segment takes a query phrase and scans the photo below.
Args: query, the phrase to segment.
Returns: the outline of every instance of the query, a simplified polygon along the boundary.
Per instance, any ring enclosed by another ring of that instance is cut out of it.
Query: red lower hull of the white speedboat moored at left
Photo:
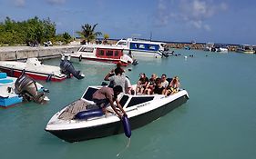
[[[15,77],[19,77],[20,75],[22,75],[23,70],[19,70],[19,69],[13,69],[13,68],[7,68],[7,67],[2,67],[0,66],[0,70],[5,72],[6,74],[10,75],[10,76],[15,76]],[[44,73],[36,73],[33,71],[25,71],[25,74],[30,76],[31,78],[35,79],[35,80],[47,80],[49,78],[48,74],[44,74]],[[56,75],[52,75],[50,81],[53,82],[60,82],[66,79],[66,76],[63,77],[58,77]]]

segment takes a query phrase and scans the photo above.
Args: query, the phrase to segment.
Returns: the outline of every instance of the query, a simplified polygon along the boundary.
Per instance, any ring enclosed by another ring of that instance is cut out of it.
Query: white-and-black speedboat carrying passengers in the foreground
[[[122,122],[111,106],[107,108],[108,113],[103,114],[92,101],[92,94],[100,87],[89,86],[80,99],[54,114],[46,125],[46,131],[67,142],[123,133]],[[179,90],[167,97],[163,94],[118,95],[119,103],[128,114],[130,129],[136,129],[168,114],[188,99],[186,90]],[[86,116],[89,111],[92,112]],[[77,114],[83,113],[86,118],[77,118]]]

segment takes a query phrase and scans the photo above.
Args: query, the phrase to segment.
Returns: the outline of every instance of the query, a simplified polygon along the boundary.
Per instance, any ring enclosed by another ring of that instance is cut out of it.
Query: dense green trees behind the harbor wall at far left
[[[0,22],[0,44],[37,44],[56,38],[56,25],[49,18],[40,20],[37,16],[26,21],[15,22],[6,17]]]

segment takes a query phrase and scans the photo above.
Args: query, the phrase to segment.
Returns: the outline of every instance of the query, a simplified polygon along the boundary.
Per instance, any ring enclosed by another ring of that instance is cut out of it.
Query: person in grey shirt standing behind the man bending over
[[[113,73],[115,72],[115,75]],[[123,74],[124,70],[120,67],[117,67],[115,70],[111,70],[108,75],[105,76],[104,80],[109,81],[110,84],[112,83],[113,86],[121,85],[123,92],[125,92],[125,83],[126,83],[126,76]]]

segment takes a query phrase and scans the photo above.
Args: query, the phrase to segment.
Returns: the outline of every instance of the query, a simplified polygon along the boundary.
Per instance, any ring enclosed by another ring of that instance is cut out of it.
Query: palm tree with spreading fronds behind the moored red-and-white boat
[[[97,35],[102,35],[101,32],[95,32],[95,27],[97,26],[97,24],[95,25],[82,25],[82,31],[79,32],[77,31],[77,34],[80,35],[84,41],[86,41],[87,43],[91,42],[92,40],[95,40],[97,38]]]

